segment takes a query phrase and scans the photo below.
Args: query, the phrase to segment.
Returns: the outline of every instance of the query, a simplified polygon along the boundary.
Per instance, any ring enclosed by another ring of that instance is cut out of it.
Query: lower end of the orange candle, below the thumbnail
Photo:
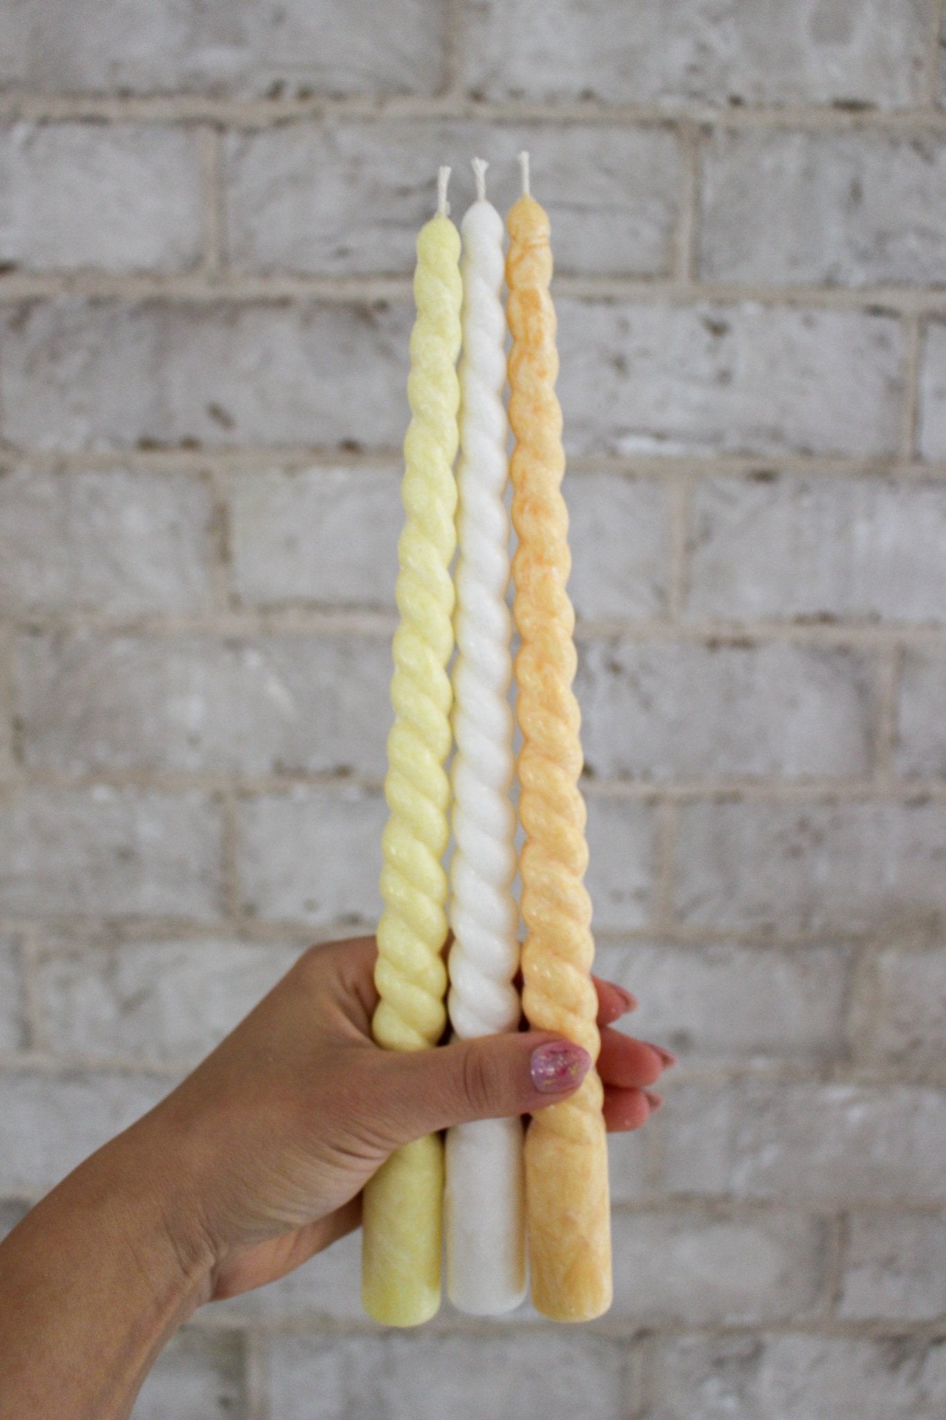
[[[553,1322],[590,1322],[613,1295],[607,1135],[600,1115],[590,1126],[566,1110],[550,1105],[526,1130],[532,1305]]]

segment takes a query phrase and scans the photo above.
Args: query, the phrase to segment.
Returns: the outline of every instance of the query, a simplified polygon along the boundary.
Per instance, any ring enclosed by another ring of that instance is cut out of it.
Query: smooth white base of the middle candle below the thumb
[[[525,1301],[525,1173],[521,1119],[447,1130],[447,1295],[472,1316]]]

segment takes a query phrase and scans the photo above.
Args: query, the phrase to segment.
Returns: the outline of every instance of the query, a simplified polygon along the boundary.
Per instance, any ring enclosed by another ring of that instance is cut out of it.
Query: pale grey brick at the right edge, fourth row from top
[[[946,486],[888,479],[701,479],[689,616],[943,621]]]

